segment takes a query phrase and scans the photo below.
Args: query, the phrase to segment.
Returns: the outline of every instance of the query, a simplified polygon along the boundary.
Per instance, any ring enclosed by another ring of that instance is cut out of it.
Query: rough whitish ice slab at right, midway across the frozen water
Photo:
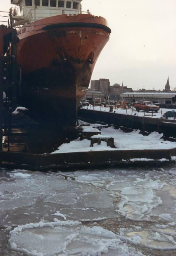
[[[149,220],[152,210],[163,204],[156,191],[167,185],[157,177],[154,180],[134,177],[133,182],[129,182],[128,179],[112,181],[107,185],[107,189],[121,196],[116,206],[118,213],[132,220]]]

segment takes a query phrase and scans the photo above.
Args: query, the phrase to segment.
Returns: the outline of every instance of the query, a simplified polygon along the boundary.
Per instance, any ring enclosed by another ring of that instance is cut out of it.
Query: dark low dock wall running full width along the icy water
[[[104,164],[118,164],[123,162],[148,163],[148,159],[155,162],[175,161],[176,148],[161,150],[113,150],[113,151],[90,151],[61,154],[26,154],[0,151],[0,163],[2,165],[19,165],[23,169],[45,168],[69,168],[72,166],[99,166]],[[136,159],[136,160],[135,160]],[[147,162],[146,160],[147,159]]]

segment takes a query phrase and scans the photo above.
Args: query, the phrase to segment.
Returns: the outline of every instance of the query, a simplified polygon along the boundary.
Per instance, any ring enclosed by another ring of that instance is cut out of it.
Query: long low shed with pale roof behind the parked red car
[[[153,101],[159,104],[173,104],[174,92],[126,92],[120,94],[120,99],[128,103],[140,101]]]

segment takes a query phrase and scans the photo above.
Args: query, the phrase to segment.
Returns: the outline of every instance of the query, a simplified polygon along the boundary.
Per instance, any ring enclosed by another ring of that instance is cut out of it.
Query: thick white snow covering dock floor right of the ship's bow
[[[116,148],[111,148],[107,146],[105,141],[101,141],[100,145],[94,144],[90,147],[90,140],[84,139],[73,140],[70,143],[62,144],[58,150],[52,152],[52,154],[58,153],[68,153],[68,152],[89,152],[89,151],[104,151],[104,150],[137,150],[137,149],[170,149],[176,148],[176,142],[164,141],[161,139],[163,134],[158,132],[152,132],[148,136],[143,136],[140,134],[140,130],[133,131],[130,133],[125,133],[122,130],[116,130],[113,126],[108,128],[102,128],[99,131],[93,128],[94,124],[91,126],[83,126],[83,132],[101,132],[101,135],[95,135],[92,137],[105,137],[114,138],[114,145]]]

